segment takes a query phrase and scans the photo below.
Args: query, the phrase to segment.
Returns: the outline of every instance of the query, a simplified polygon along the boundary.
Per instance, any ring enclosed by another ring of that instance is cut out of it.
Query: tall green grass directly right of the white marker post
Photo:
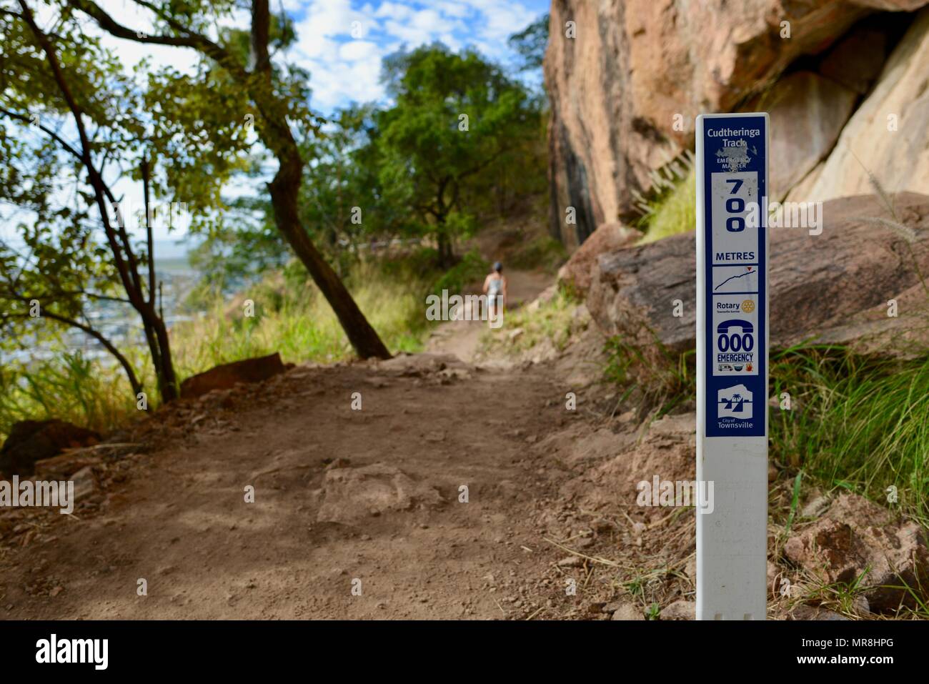
[[[771,360],[771,455],[830,489],[896,502],[929,522],[929,357],[866,360],[843,348],[787,349]],[[779,401],[780,402],[780,401]]]

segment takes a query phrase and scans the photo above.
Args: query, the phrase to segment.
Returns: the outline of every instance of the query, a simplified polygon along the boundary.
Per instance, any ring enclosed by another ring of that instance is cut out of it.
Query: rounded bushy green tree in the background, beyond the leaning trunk
[[[383,192],[412,208],[448,267],[454,240],[476,227],[465,196],[538,138],[538,103],[477,52],[441,44],[386,58],[384,82],[396,104],[377,117]]]

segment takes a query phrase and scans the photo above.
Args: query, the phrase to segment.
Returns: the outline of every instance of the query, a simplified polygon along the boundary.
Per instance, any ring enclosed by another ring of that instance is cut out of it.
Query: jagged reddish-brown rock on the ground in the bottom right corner
[[[914,605],[909,585],[929,598],[929,547],[926,533],[913,521],[896,521],[882,506],[843,493],[826,514],[795,533],[784,555],[829,583],[851,583],[865,573],[863,592],[872,612],[893,612]],[[921,588],[922,587],[922,588]]]

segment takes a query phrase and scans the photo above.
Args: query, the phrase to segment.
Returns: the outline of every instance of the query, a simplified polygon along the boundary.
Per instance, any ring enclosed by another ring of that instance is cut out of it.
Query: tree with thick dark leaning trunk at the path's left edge
[[[212,27],[218,20],[232,17],[241,2],[167,0],[156,5],[148,0],[132,0],[137,9],[150,13],[155,24],[153,32],[124,25],[93,0],[65,2],[117,38],[146,45],[186,47],[202,56],[202,68],[195,76],[163,74],[159,87],[150,89],[171,96],[167,107],[152,109],[163,134],[160,139],[170,140],[181,159],[187,155],[191,160],[203,160],[204,148],[224,151],[229,147],[229,128],[243,129],[247,125],[250,132],[254,131],[257,141],[278,164],[268,183],[277,229],[332,306],[360,357],[389,357],[345,284],[310,239],[300,217],[299,196],[307,160],[298,137],[317,130],[320,122],[307,108],[306,73],[293,67],[284,69],[272,59],[278,47],[293,39],[287,20],[275,20],[268,0],[252,0],[247,31],[219,32],[214,40],[210,37]],[[217,99],[224,100],[225,105],[212,104]],[[181,106],[172,108],[172,103]],[[232,139],[236,139],[234,135]],[[182,171],[190,168],[183,166]],[[210,182],[209,168],[197,170],[197,177],[185,173],[176,178],[177,185],[184,180],[191,188],[201,190],[200,186]]]

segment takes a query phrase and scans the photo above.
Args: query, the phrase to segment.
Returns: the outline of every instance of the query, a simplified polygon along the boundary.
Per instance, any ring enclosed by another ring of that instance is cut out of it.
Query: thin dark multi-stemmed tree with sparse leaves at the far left
[[[27,343],[53,335],[36,320],[78,328],[110,351],[138,393],[132,364],[88,310],[134,309],[162,400],[171,401],[177,377],[151,268],[158,164],[149,156],[142,94],[70,13],[59,16],[53,38],[24,0],[18,4],[19,12],[0,14],[0,144],[7,161],[0,200],[34,220],[20,222],[19,243],[0,244],[0,326],[7,339]],[[134,240],[127,228],[133,217],[111,189],[126,176],[144,185],[144,241]]]

